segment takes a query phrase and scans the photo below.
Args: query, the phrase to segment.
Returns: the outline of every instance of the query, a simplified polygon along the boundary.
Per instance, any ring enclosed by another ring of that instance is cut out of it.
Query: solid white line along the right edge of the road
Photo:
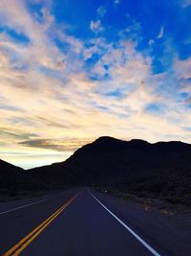
[[[89,191],[90,195],[96,199],[96,201],[106,210],[108,211],[121,225],[123,225],[141,244],[143,244],[153,255],[160,256],[159,252],[157,252],[153,247],[151,247],[149,244],[147,244],[143,239],[141,239],[138,234],[131,229],[127,224],[125,224],[123,221],[121,221],[112,211],[110,211],[99,199],[95,197],[95,195],[92,194],[91,191]]]

